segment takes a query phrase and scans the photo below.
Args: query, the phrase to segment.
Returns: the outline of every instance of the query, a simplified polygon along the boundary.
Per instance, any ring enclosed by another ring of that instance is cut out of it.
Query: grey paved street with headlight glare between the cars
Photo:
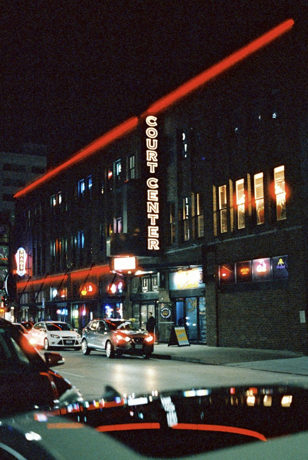
[[[143,360],[140,357],[107,359],[104,353],[96,351],[92,351],[89,356],[84,356],[80,351],[66,350],[61,353],[65,364],[54,370],[79,388],[86,398],[101,396],[107,384],[114,386],[121,394],[241,384],[284,383],[308,386],[306,375],[245,368],[250,364],[247,362],[241,367],[241,364],[234,363],[207,365],[156,358]]]

